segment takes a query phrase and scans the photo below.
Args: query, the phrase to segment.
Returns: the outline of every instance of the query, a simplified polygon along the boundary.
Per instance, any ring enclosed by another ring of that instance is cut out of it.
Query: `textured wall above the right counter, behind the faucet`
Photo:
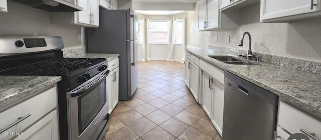
[[[242,8],[238,14],[238,29],[198,32],[198,9],[188,12],[187,45],[204,49],[214,45],[247,50],[248,37],[245,37],[244,47],[238,46],[240,37],[247,31],[252,36],[253,52],[321,62],[321,18],[260,23],[260,3]],[[216,36],[219,42],[216,42]],[[230,43],[227,43],[227,36],[230,36]]]

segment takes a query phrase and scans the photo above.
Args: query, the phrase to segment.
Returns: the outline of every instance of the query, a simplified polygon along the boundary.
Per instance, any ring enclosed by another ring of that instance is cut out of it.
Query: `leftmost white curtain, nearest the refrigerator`
[[[139,19],[139,37],[140,37],[139,55],[140,55],[140,61],[146,61],[145,21],[146,21],[145,19]]]

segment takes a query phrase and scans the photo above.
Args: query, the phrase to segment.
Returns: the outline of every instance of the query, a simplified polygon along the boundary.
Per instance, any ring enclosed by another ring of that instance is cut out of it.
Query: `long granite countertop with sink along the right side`
[[[319,74],[263,62],[259,62],[259,65],[226,64],[208,55],[229,54],[204,49],[186,49],[186,51],[321,116],[321,75]]]

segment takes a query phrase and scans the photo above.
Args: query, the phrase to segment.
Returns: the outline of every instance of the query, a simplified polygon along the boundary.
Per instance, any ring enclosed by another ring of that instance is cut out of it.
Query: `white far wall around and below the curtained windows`
[[[169,20],[187,18],[187,13],[176,15],[138,15],[139,19],[149,20]],[[140,47],[140,46],[139,46]],[[182,45],[174,45],[173,57],[175,61],[181,62],[183,57]],[[169,56],[169,44],[149,44],[149,58],[150,60],[166,60]],[[138,56],[140,58],[140,55]]]

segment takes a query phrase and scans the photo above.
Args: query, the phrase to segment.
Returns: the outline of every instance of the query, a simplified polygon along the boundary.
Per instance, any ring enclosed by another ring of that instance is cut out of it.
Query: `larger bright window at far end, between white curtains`
[[[167,20],[149,21],[149,43],[169,43],[169,23]]]

